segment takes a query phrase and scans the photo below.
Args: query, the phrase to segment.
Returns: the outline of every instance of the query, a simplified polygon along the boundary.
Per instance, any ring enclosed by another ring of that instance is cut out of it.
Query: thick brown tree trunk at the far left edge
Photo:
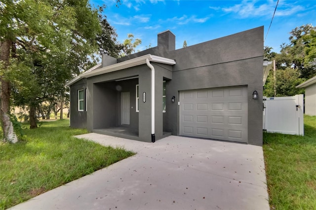
[[[2,70],[6,70],[9,65],[9,56],[10,56],[10,46],[11,41],[6,39],[4,42],[0,42],[0,51],[1,56],[0,60],[3,62],[4,67]],[[10,83],[6,81],[4,76],[0,76],[1,82],[1,108],[0,108],[0,122],[1,128],[3,131],[4,140],[11,141],[15,143],[18,141],[16,134],[13,130],[13,125],[10,120]]]

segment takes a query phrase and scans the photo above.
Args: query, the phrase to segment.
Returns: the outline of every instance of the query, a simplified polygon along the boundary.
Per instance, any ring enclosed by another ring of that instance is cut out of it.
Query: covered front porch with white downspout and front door
[[[153,58],[159,63],[159,57]],[[87,78],[89,131],[147,142],[171,135],[163,132],[162,89],[163,81],[172,79],[172,66],[145,60],[148,64],[122,69],[114,64],[113,71],[108,66],[106,73]]]

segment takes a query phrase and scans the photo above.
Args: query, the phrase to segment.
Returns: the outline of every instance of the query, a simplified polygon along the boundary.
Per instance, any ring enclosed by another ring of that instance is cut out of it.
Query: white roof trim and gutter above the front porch
[[[100,74],[104,74],[104,73],[109,73],[109,72],[113,72],[113,71],[117,71],[117,70],[123,70],[123,69],[127,69],[127,68],[130,68],[130,67],[136,67],[136,66],[139,66],[139,65],[146,64],[146,59],[148,59],[151,62],[156,62],[156,63],[161,63],[161,64],[169,64],[169,65],[175,65],[176,64],[176,62],[174,60],[172,60],[172,59],[163,58],[163,57],[159,57],[159,56],[156,56],[156,55],[147,54],[147,55],[144,55],[144,56],[140,56],[138,58],[134,58],[134,59],[130,59],[130,60],[127,60],[127,61],[123,61],[123,62],[120,62],[120,63],[117,63],[117,64],[113,64],[111,66],[103,67],[103,68],[100,68],[100,69],[96,69],[96,68],[92,67],[92,68],[94,68],[93,70],[91,68],[91,69],[85,71],[84,73],[80,74],[79,76],[77,76],[73,80],[69,81],[66,84],[66,86],[70,86],[70,85],[74,84],[75,82],[77,82],[81,78],[88,78],[88,77],[91,77],[91,76],[96,76],[96,75],[100,75]]]

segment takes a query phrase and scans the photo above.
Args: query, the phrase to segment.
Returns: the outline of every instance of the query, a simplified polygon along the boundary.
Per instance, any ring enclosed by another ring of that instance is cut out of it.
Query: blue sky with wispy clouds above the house
[[[127,34],[140,38],[137,50],[157,46],[157,34],[170,30],[176,35],[176,49],[235,34],[259,26],[264,37],[277,0],[90,0],[92,5],[106,4],[104,14],[116,29],[118,40]],[[265,40],[279,52],[288,43],[289,32],[303,24],[316,25],[316,0],[279,0],[276,14]]]

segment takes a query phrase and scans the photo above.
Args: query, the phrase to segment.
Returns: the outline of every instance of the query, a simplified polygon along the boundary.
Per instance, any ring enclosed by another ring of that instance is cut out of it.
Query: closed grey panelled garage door
[[[180,135],[247,142],[247,87],[181,91]]]

